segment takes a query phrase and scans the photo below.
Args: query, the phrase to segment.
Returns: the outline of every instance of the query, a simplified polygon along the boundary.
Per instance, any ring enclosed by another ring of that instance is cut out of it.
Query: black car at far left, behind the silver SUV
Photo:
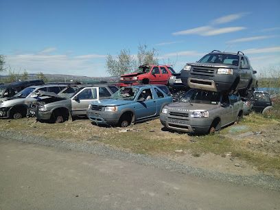
[[[28,86],[42,85],[45,84],[43,80],[27,80],[11,82],[8,84],[0,85],[0,98],[2,97],[12,97],[19,91],[25,89]]]

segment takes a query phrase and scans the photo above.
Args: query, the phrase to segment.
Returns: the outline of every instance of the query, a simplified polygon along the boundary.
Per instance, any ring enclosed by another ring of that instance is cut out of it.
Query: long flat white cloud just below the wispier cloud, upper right
[[[215,36],[218,34],[226,34],[231,32],[238,32],[244,30],[246,27],[222,27],[215,28],[211,26],[196,27],[190,30],[174,32],[173,35],[187,35],[187,34],[198,34],[200,36]]]

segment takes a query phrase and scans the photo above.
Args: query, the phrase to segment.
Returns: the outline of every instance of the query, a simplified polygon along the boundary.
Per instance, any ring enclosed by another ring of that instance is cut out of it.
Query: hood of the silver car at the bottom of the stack
[[[170,110],[212,110],[217,108],[218,104],[198,104],[198,103],[187,103],[187,102],[175,102],[168,104],[166,108]]]

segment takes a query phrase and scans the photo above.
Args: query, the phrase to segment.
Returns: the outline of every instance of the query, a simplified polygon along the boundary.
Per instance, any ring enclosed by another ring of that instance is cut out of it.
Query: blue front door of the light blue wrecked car
[[[136,102],[133,105],[136,119],[143,119],[156,115],[156,99],[152,89],[142,89],[137,95]]]

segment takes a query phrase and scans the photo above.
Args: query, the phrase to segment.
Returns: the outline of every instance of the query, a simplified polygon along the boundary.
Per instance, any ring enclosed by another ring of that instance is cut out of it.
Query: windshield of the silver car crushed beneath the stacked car
[[[191,89],[180,98],[180,102],[197,104],[219,104],[220,94],[212,91]]]

